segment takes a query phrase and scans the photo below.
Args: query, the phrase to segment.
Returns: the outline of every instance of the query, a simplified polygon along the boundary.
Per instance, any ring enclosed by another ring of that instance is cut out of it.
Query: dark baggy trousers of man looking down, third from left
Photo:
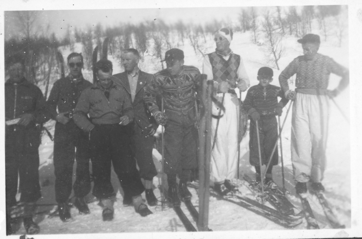
[[[129,129],[118,124],[95,125],[90,131],[95,197],[106,199],[115,196],[111,184],[111,164],[125,194],[136,196],[144,191],[136,161],[131,157],[129,143]]]

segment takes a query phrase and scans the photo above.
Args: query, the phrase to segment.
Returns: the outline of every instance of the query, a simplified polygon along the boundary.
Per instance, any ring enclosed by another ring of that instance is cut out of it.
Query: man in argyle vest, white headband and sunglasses
[[[235,189],[231,179],[237,174],[238,126],[241,120],[239,101],[233,89],[237,87],[245,91],[250,85],[243,60],[230,49],[232,36],[230,29],[217,31],[214,38],[216,50],[207,54],[203,61],[203,74],[208,80],[214,80],[216,92],[212,103],[211,137],[214,146],[210,177],[220,195]]]

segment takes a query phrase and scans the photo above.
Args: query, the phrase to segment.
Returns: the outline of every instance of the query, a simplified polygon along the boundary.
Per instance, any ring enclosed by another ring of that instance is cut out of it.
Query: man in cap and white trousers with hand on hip
[[[296,192],[307,192],[307,182],[314,191],[324,191],[321,183],[325,170],[328,133],[328,97],[337,96],[349,84],[349,71],[332,58],[318,52],[319,35],[307,34],[298,40],[303,56],[296,57],[279,75],[285,96],[294,100],[291,132],[291,160]],[[342,77],[336,89],[327,90],[329,75]],[[287,80],[296,74],[295,91]]]

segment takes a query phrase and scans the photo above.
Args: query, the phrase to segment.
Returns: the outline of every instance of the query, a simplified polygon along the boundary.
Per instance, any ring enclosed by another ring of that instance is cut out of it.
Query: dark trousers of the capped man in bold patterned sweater
[[[194,126],[194,111],[187,115],[165,112],[165,164],[166,174],[181,174],[182,169],[197,168],[198,131]],[[181,178],[180,178],[181,179]]]

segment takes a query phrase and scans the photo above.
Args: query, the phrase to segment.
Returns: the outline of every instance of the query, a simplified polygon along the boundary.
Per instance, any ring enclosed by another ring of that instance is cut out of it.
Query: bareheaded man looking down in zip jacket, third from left
[[[136,166],[130,163],[128,129],[122,127],[133,121],[131,101],[124,88],[111,80],[112,62],[103,59],[95,67],[98,81],[82,92],[74,110],[75,123],[89,134],[93,195],[101,201],[103,220],[111,221],[115,199],[110,178],[113,164],[123,191],[132,197],[136,212],[147,216],[152,212],[142,202],[144,187]]]

